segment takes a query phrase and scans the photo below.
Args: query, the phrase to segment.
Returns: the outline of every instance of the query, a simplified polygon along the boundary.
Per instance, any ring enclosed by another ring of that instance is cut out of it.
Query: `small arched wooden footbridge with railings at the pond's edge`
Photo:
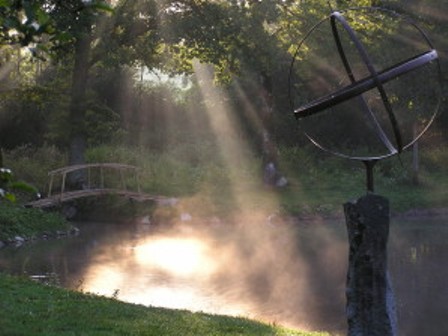
[[[83,183],[78,190],[68,190],[67,175],[82,174]],[[137,202],[155,201],[162,205],[173,205],[176,200],[140,191],[138,168],[120,163],[92,163],[73,165],[48,173],[48,193],[26,204],[33,208],[51,208],[80,198],[118,195]]]

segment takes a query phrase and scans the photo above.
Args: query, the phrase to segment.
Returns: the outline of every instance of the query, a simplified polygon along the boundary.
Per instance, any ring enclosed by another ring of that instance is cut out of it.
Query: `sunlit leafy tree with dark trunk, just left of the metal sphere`
[[[319,1],[188,0],[177,1],[164,17],[171,64],[187,72],[193,72],[194,59],[213,64],[216,81],[238,86],[240,99],[250,101],[246,108],[257,117],[246,123],[255,128],[265,165],[276,165],[275,120],[289,109],[284,104],[292,41],[287,35],[303,34],[303,7],[319,13],[322,6]]]

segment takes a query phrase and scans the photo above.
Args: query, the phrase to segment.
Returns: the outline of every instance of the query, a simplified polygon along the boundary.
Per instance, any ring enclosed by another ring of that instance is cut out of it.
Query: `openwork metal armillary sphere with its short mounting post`
[[[380,8],[333,11],[298,44],[289,96],[308,139],[373,166],[412,146],[441,102],[437,51],[406,17]]]

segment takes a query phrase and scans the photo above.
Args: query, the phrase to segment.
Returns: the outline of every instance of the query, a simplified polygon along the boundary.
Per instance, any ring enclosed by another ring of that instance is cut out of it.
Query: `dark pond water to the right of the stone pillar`
[[[391,228],[392,271],[403,335],[448,335],[448,226],[407,220]]]

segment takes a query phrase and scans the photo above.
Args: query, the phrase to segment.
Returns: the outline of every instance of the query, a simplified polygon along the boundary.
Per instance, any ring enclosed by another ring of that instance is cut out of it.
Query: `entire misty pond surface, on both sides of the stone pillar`
[[[345,334],[344,221],[77,223],[80,235],[0,250],[0,271],[144,305]],[[393,220],[400,335],[448,335],[446,220]]]

